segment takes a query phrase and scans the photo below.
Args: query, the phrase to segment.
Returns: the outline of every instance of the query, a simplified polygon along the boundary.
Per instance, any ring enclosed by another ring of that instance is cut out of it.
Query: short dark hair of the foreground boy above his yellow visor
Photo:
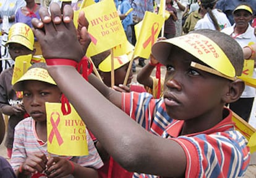
[[[218,44],[236,70],[236,76],[241,76],[244,67],[244,52],[235,39],[228,34],[209,29],[195,30],[190,33],[202,34]]]

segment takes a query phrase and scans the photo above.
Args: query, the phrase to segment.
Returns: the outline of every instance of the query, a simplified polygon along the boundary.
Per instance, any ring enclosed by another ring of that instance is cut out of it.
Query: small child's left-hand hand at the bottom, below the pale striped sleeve
[[[28,155],[24,163],[21,165],[20,174],[35,174],[37,172],[43,172],[46,169],[47,158],[44,153],[35,153],[34,155]]]

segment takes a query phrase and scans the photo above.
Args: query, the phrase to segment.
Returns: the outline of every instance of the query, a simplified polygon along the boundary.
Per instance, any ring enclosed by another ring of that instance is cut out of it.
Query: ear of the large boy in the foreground
[[[223,101],[225,103],[233,103],[236,100],[238,100],[242,92],[244,91],[244,81],[241,79],[236,79],[235,81],[232,81],[229,83],[229,90],[226,92],[226,94],[223,96]]]

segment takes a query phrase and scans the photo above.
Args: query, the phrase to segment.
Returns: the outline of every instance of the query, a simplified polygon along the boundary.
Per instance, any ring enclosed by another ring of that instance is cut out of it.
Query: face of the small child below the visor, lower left
[[[61,91],[41,81],[24,81],[23,86],[25,110],[35,121],[46,121],[45,102],[60,102]]]

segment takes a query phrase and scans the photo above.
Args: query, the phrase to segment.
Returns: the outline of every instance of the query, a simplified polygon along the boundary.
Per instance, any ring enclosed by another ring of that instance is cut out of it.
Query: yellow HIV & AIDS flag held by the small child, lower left
[[[48,152],[63,156],[88,155],[86,126],[71,107],[69,115],[63,115],[61,103],[45,103],[47,115]]]

